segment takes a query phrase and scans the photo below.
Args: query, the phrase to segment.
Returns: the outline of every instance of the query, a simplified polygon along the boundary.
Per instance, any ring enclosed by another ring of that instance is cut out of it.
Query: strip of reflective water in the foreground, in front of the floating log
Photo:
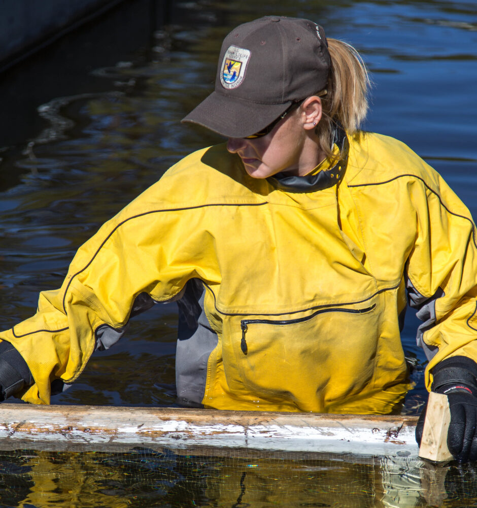
[[[15,451],[0,454],[3,505],[47,506],[473,506],[477,469],[416,458],[288,454],[177,455]]]

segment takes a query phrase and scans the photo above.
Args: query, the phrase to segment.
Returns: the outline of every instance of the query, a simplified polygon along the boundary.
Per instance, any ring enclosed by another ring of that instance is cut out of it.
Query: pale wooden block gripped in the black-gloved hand
[[[452,460],[447,447],[447,431],[451,423],[451,410],[447,395],[431,392],[427,403],[426,421],[422,433],[419,456],[433,462]]]

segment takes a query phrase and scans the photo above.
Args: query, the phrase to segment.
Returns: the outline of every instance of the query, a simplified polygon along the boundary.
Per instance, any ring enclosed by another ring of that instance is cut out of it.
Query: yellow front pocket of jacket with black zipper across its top
[[[372,390],[379,316],[377,295],[287,319],[231,317],[222,351],[227,383],[301,411],[361,396]]]

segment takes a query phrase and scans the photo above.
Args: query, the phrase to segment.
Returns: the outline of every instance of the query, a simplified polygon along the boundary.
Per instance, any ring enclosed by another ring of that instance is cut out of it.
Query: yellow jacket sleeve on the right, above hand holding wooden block
[[[477,361],[477,238],[469,210],[437,173],[407,190],[417,221],[407,289],[424,322],[417,340],[429,359],[430,391],[432,368],[443,359],[460,355]]]

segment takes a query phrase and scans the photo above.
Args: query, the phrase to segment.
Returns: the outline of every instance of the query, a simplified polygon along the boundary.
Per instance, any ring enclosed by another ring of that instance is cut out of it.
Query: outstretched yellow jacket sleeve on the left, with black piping
[[[23,400],[47,404],[53,380],[74,382],[100,331],[120,334],[139,295],[166,302],[189,278],[207,277],[197,260],[208,240],[191,234],[201,209],[171,206],[154,194],[148,189],[108,221],[80,247],[61,288],[40,294],[37,313],[0,333],[33,375]]]

